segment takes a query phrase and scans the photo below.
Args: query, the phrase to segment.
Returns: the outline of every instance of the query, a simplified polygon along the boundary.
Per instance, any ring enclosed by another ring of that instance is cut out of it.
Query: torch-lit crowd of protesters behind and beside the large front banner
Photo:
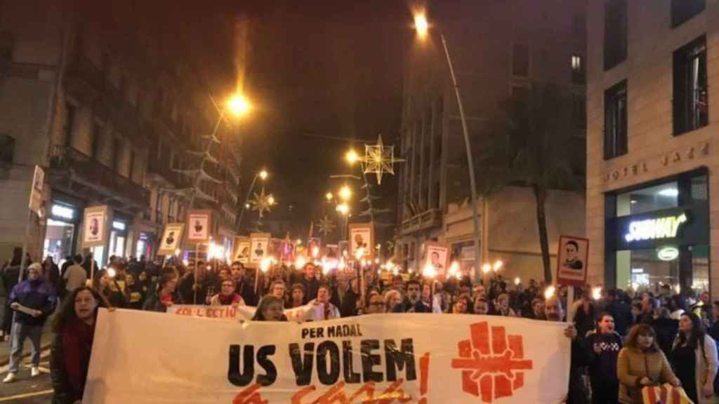
[[[719,302],[710,303],[707,293],[673,293],[669,285],[653,291],[575,288],[577,300],[567,308],[567,288],[534,280],[509,285],[496,273],[477,283],[467,275],[439,281],[375,270],[326,273],[312,263],[261,272],[239,262],[186,266],[144,257],[111,257],[105,269],[91,273],[95,264],[87,255],[68,257],[60,267],[52,259],[29,265],[18,283],[20,257],[16,252],[2,268],[9,291],[3,334],[12,337],[4,382],[17,377],[25,339],[32,343],[31,375],[40,374],[42,328],[59,300],[50,361],[55,403],[81,399],[98,307],[163,312],[177,304],[257,306],[254,321],[287,321],[284,309],[304,305],[323,305],[326,319],[456,313],[567,321],[568,403],[642,403],[641,387],[659,383],[682,386],[698,404],[712,402],[715,391]],[[11,333],[7,323],[13,321]]]

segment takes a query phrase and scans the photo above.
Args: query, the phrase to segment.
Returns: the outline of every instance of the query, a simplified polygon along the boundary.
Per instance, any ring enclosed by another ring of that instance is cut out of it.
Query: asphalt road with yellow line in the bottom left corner
[[[26,344],[27,345],[27,344]],[[26,346],[25,349],[29,349]],[[50,350],[46,349],[40,357],[40,370],[50,369]],[[43,369],[44,368],[44,369]],[[0,378],[7,375],[7,365],[0,367]],[[1,382],[1,380],[0,380]],[[12,383],[0,383],[0,404],[47,404],[52,398],[50,373],[30,377],[29,357],[23,360],[17,380]]]

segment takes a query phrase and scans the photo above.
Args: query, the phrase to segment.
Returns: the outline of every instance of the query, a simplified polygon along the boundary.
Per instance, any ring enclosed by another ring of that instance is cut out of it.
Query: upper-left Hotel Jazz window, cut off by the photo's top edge
[[[609,0],[604,6],[604,70],[627,58],[627,0]]]

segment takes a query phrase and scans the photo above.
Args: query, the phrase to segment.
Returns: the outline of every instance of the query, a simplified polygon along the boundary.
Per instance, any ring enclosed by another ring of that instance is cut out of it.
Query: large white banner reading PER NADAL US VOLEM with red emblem
[[[235,323],[101,309],[83,403],[562,403],[566,327],[461,314]]]

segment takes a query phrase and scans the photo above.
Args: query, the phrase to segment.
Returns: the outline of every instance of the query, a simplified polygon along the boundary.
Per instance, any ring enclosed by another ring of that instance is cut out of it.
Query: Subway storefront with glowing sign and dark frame
[[[605,195],[605,284],[709,290],[709,189],[702,168]]]

